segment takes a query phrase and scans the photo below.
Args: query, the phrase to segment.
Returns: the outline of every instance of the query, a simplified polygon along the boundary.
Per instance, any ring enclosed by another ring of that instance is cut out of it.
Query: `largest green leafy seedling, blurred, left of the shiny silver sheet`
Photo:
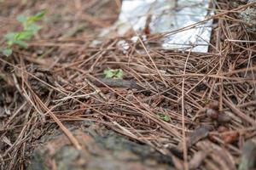
[[[1,49],[2,53],[6,56],[11,55],[14,45],[18,45],[21,48],[27,48],[28,44],[26,41],[31,40],[32,37],[41,29],[41,26],[38,26],[36,22],[38,20],[42,20],[45,13],[46,11],[44,10],[32,16],[18,16],[17,20],[22,25],[22,31],[9,32],[5,35],[5,39],[7,40],[7,47]]]

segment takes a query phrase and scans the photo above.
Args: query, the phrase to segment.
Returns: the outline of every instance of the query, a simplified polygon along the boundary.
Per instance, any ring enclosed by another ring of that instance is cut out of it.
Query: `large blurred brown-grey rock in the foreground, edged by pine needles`
[[[41,139],[28,169],[43,170],[172,170],[172,158],[104,127],[74,129],[83,150],[76,150],[65,135],[55,132]]]

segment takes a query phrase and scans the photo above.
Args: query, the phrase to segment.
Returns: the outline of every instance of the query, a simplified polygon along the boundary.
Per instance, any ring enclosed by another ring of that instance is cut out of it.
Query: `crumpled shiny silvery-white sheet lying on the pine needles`
[[[213,10],[211,0],[123,0],[119,20],[113,28],[124,36],[131,28],[141,35],[148,25],[150,34],[166,33],[161,48],[207,53],[212,20],[189,29],[181,28],[205,20]],[[169,33],[168,33],[169,32]],[[105,32],[106,33],[106,32]]]

